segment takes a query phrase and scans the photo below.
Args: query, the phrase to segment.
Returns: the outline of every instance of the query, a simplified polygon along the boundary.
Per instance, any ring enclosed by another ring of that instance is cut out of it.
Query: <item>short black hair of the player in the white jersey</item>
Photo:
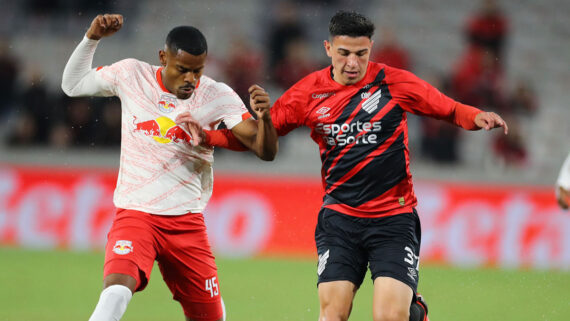
[[[200,30],[191,26],[179,26],[170,30],[166,36],[166,47],[172,52],[180,49],[194,56],[208,52],[206,37]]]

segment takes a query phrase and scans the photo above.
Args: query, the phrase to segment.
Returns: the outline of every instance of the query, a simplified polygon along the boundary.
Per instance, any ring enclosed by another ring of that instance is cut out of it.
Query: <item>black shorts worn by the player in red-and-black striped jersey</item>
[[[416,293],[421,227],[415,209],[412,213],[360,218],[322,208],[315,241],[318,283],[343,280],[360,287],[370,266],[372,280],[391,277]]]

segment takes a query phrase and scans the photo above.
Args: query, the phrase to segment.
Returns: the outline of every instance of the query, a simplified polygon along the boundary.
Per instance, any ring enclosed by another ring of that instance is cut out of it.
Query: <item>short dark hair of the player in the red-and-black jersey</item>
[[[355,11],[338,11],[329,23],[329,34],[335,36],[368,37],[374,35],[374,24]]]

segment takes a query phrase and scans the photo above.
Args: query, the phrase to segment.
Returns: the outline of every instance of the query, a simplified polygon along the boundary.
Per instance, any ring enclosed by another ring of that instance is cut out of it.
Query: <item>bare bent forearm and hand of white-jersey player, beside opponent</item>
[[[260,86],[249,88],[250,106],[257,120],[246,119],[231,129],[235,137],[262,160],[272,161],[277,155],[279,142],[271,120],[269,94]]]

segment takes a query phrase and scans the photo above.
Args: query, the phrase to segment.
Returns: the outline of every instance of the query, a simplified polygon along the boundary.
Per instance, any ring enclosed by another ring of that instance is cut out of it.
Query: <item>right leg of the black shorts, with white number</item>
[[[372,280],[389,277],[416,292],[419,280],[421,230],[417,214],[379,218],[366,230],[366,249]]]

